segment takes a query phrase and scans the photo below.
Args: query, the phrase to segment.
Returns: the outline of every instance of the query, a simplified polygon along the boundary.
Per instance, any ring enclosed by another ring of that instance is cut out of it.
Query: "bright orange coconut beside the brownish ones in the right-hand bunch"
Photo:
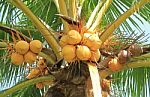
[[[113,58],[109,61],[108,67],[112,71],[119,71],[122,68],[122,65],[119,63],[118,58],[116,57],[116,58]]]

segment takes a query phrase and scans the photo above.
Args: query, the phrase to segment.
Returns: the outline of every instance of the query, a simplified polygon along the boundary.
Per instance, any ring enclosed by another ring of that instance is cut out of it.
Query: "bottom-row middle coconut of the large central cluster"
[[[91,57],[91,51],[87,46],[78,45],[76,55],[80,60],[88,60]]]

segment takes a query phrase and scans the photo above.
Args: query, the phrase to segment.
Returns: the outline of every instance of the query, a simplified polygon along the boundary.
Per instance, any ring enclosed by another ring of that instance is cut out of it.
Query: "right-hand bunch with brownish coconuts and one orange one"
[[[129,46],[127,50],[120,50],[117,56],[106,58],[101,64],[105,66],[105,68],[110,68],[112,71],[119,71],[132,57],[140,56],[142,53],[142,47],[138,44],[133,44]]]

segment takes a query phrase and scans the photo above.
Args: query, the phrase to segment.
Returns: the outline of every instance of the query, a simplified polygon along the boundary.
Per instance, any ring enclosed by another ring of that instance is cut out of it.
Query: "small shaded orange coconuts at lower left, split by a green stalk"
[[[30,73],[27,75],[27,79],[32,79],[32,78],[36,78],[39,76],[44,76],[44,75],[48,75],[48,69],[47,69],[47,65],[45,62],[45,59],[41,58],[39,59],[37,66],[35,68],[32,68]],[[43,82],[39,82],[36,83],[36,87],[39,89],[42,89],[45,85],[50,85],[50,81],[43,81]]]

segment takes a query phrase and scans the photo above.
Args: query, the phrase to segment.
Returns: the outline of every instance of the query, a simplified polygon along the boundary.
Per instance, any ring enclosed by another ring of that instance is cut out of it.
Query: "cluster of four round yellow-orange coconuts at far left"
[[[23,62],[32,64],[42,50],[42,43],[39,40],[32,40],[30,43],[21,40],[14,45],[14,48],[15,52],[11,54],[13,64],[20,65]]]

